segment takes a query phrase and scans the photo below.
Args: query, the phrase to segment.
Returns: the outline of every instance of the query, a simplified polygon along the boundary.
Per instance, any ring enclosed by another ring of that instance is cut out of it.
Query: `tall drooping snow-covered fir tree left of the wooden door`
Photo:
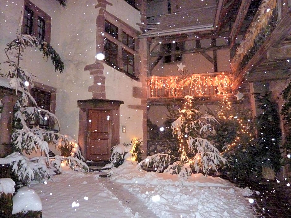
[[[3,158],[5,160],[1,159],[0,163],[13,165],[13,172],[17,174],[18,182],[22,185],[28,184],[33,179],[41,180],[50,177],[51,174],[61,173],[60,164],[63,160],[67,161],[71,169],[81,167],[86,171],[89,170],[78,144],[72,138],[37,125],[36,121],[45,118],[50,118],[54,126],[59,126],[59,122],[53,113],[39,107],[30,94],[30,89],[34,87],[33,75],[21,67],[24,51],[28,47],[41,51],[46,60],[50,58],[55,71],[62,72],[64,69],[59,54],[47,42],[35,36],[16,33],[15,39],[8,43],[5,49],[9,70],[2,76],[10,79],[10,87],[15,89],[18,100],[14,106],[11,137],[14,153]],[[61,156],[51,157],[49,143],[61,151]],[[28,160],[22,156],[37,151],[41,152],[40,158]]]

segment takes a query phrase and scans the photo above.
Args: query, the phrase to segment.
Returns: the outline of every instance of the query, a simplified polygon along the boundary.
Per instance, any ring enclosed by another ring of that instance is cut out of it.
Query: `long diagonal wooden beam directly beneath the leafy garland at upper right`
[[[239,71],[238,76],[232,82],[232,91],[236,90],[243,81],[247,72],[250,72],[255,65],[266,55],[267,50],[271,47],[276,47],[280,42],[284,41],[291,34],[291,9],[280,20],[274,31],[267,37],[263,45],[255,53],[254,57],[248,62],[248,64]]]

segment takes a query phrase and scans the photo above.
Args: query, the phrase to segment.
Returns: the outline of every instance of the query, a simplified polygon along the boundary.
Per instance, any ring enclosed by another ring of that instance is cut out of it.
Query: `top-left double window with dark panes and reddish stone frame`
[[[29,0],[24,0],[22,33],[50,43],[51,18]]]

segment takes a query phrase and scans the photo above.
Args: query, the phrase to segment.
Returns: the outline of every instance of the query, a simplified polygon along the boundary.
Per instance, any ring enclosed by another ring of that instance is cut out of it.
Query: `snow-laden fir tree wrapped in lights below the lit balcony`
[[[208,135],[215,134],[212,124],[215,117],[193,109],[192,96],[185,96],[184,109],[180,117],[172,123],[172,134],[178,139],[178,154],[156,154],[141,161],[141,167],[151,167],[157,172],[179,174],[187,177],[192,173],[208,175],[216,171],[220,164],[228,164],[219,150],[207,140]]]

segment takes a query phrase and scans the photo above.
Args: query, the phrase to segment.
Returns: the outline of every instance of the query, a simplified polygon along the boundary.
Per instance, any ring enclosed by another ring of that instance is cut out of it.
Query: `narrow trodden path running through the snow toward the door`
[[[103,186],[110,190],[124,206],[130,207],[132,213],[138,218],[158,218],[149,208],[145,206],[135,195],[128,192],[123,184],[110,181],[109,178],[99,179]],[[138,214],[137,214],[138,213]]]

